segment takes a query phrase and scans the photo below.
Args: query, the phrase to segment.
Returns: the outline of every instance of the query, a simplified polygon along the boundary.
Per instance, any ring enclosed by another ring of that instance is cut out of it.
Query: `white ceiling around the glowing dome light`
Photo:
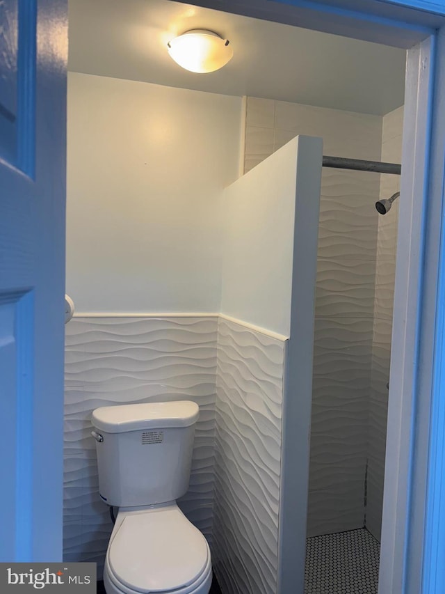
[[[172,0],[69,0],[68,68],[226,95],[387,114],[403,104],[405,51]],[[228,38],[222,70],[182,70],[166,45],[188,29]]]

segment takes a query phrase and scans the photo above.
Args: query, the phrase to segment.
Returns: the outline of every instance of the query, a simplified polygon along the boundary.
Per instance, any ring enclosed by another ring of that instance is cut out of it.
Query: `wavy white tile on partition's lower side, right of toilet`
[[[224,593],[273,594],[286,343],[218,325],[214,568]]]

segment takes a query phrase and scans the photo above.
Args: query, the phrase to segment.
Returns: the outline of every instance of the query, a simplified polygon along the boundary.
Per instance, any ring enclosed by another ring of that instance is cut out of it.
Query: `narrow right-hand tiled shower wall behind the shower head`
[[[400,163],[402,158],[403,107],[383,117],[382,161]],[[380,197],[398,192],[400,177],[382,175]],[[385,216],[378,217],[377,261],[373,320],[371,398],[369,405],[368,482],[366,527],[380,540],[383,478],[387,433],[387,403],[391,331],[396,273],[398,205],[396,200]]]

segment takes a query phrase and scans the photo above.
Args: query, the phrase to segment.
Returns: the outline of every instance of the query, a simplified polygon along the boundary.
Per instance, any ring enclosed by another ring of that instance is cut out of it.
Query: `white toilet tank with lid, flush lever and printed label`
[[[111,506],[175,501],[188,489],[195,402],[149,402],[92,413],[99,493]]]

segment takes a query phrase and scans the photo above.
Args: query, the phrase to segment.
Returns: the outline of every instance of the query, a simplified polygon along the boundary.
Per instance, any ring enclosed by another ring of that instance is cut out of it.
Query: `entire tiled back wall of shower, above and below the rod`
[[[296,134],[323,154],[380,160],[382,118],[248,97],[245,170]],[[323,169],[308,536],[363,526],[380,175]]]

